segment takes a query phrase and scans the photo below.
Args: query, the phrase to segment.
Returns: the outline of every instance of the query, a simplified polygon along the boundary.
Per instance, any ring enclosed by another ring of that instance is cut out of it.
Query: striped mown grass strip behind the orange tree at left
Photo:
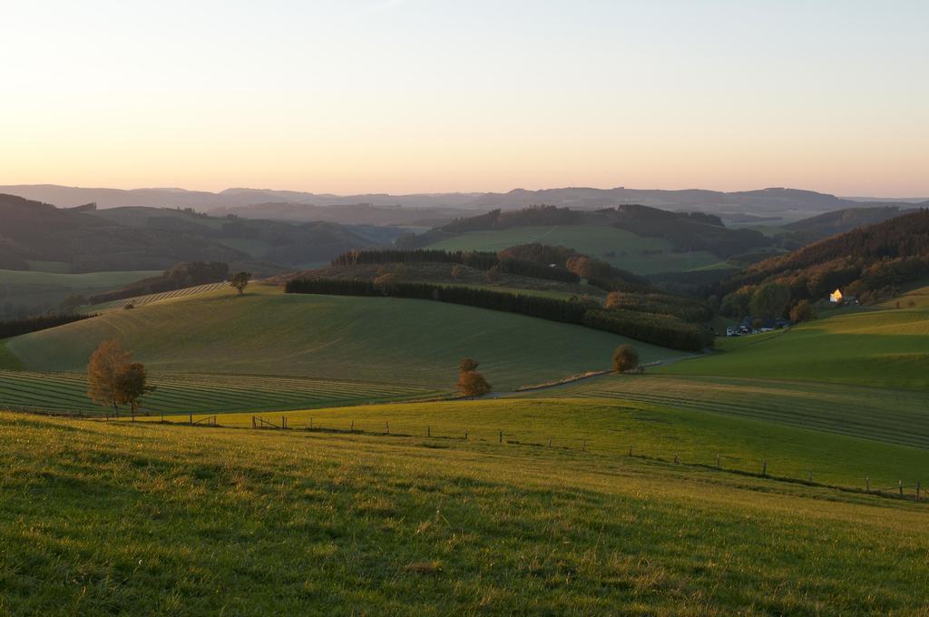
[[[425,398],[425,388],[227,374],[157,374],[141,414],[198,414],[307,409]],[[45,412],[110,413],[87,398],[83,374],[0,371],[0,407]],[[125,411],[125,410],[124,410]]]

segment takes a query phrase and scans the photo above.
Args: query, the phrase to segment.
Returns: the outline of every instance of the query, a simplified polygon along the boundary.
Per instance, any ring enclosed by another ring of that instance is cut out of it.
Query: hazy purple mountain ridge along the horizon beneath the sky
[[[100,208],[127,205],[154,207],[193,207],[205,211],[218,211],[223,214],[237,214],[242,217],[255,217],[252,209],[263,204],[268,210],[268,203],[283,203],[291,206],[313,206],[317,208],[333,206],[396,207],[411,209],[438,209],[432,218],[454,218],[454,212],[471,210],[521,209],[530,205],[550,204],[575,209],[596,209],[613,207],[623,203],[639,203],[665,209],[686,209],[713,212],[717,214],[779,214],[786,217],[802,218],[811,213],[827,212],[851,207],[874,207],[883,205],[920,205],[912,200],[877,200],[861,202],[836,197],[813,190],[770,188],[762,190],[741,190],[723,192],[718,190],[650,190],[650,189],[594,189],[586,187],[568,187],[560,189],[525,190],[514,189],[508,192],[451,192],[451,193],[416,193],[408,195],[390,195],[372,193],[359,195],[334,195],[330,193],[311,193],[296,190],[263,189],[227,189],[220,192],[201,190],[167,189],[87,189],[63,187],[52,184],[0,186],[0,192],[19,195],[60,206],[75,206],[95,202]],[[929,201],[922,202],[929,205]],[[267,214],[264,215],[267,217]],[[319,213],[314,213],[315,220],[320,220]],[[299,207],[291,207],[281,212],[281,217],[291,220],[309,220],[302,216]],[[427,216],[428,217],[428,216]],[[322,218],[329,219],[329,218]],[[347,222],[333,217],[334,222]],[[368,221],[353,221],[368,222]]]

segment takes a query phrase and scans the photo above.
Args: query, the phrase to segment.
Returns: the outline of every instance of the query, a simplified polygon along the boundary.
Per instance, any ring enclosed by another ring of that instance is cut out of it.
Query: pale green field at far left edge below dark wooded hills
[[[161,272],[156,270],[88,274],[0,270],[0,315],[3,314],[4,303],[7,302],[14,308],[35,311],[58,308],[61,301],[69,295],[99,294],[159,274]]]

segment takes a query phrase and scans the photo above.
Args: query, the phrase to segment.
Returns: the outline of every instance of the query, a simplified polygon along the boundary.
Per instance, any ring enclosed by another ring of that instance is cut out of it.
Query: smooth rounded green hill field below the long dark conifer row
[[[120,338],[151,374],[275,374],[448,391],[471,356],[500,390],[608,368],[629,339],[512,313],[427,300],[286,295],[249,287],[188,295],[8,339],[27,370],[83,371]],[[682,352],[635,342],[644,361]]]

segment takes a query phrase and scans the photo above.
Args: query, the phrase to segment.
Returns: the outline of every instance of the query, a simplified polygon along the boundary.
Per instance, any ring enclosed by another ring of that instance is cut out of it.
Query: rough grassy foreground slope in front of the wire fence
[[[0,444],[13,614],[929,607],[912,501],[486,440],[0,414]]]

